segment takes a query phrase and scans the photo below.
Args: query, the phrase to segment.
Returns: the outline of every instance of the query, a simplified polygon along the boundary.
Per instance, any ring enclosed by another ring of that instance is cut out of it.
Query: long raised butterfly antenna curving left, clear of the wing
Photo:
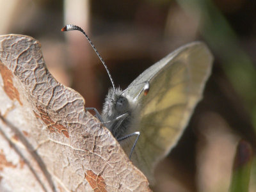
[[[114,81],[110,75],[110,72],[108,70],[108,67],[107,65],[105,64],[105,62],[103,61],[102,57],[100,56],[99,52],[97,51],[97,49],[94,47],[92,41],[90,40],[90,38],[88,37],[88,35],[84,32],[84,30],[82,28],[80,28],[79,26],[75,26],[75,25],[67,25],[65,26],[64,28],[61,29],[61,31],[73,31],[73,30],[76,30],[76,31],[80,31],[83,33],[83,35],[87,38],[88,42],[92,45],[92,48],[93,50],[96,52],[97,56],[100,58],[100,61],[102,62],[102,64],[104,65],[104,67],[106,68],[107,72],[108,72],[108,76],[109,76],[109,79],[112,83],[112,86],[113,86],[113,90],[115,92],[115,84],[114,84]]]

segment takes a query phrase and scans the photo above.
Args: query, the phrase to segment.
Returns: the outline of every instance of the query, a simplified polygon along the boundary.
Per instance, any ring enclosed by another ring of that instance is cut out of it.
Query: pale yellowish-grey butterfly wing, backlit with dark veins
[[[154,165],[176,145],[211,74],[212,54],[202,42],[184,45],[145,70],[128,93],[136,98],[149,81],[147,95],[140,94],[140,115],[134,131],[140,139],[132,162],[152,180]],[[134,86],[140,84],[138,86]]]

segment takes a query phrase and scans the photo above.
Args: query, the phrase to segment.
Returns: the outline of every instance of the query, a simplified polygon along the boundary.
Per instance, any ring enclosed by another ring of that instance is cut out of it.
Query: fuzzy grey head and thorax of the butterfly
[[[135,110],[136,105],[132,99],[122,93],[120,88],[115,91],[113,88],[109,89],[103,105],[102,118],[115,138],[118,139],[127,134],[134,119]]]

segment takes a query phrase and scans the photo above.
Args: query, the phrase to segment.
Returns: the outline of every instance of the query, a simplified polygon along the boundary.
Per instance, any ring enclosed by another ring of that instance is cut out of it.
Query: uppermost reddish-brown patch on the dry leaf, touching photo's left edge
[[[4,92],[6,93],[6,95],[8,95],[8,97],[11,100],[15,100],[15,99],[18,100],[20,105],[22,106],[22,102],[20,101],[20,94],[17,88],[13,86],[13,81],[12,81],[13,74],[6,66],[3,65],[3,63],[1,63],[1,61],[0,61],[0,73],[4,82]]]

